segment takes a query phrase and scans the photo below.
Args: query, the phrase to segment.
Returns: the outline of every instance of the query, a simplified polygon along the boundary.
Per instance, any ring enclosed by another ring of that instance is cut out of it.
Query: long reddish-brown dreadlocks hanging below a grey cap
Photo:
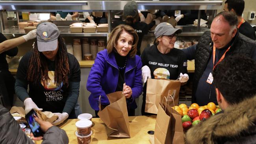
[[[55,59],[54,81],[57,85],[60,85],[61,82],[63,82],[63,85],[67,84],[68,87],[69,60],[65,40],[60,35],[58,37],[58,46],[59,49]],[[33,49],[33,54],[30,57],[27,71],[27,79],[29,82],[36,84],[37,82],[42,81],[43,85],[48,84],[48,80],[50,80],[50,78],[48,76],[46,59],[45,55],[38,51],[37,41],[35,41],[35,48]]]

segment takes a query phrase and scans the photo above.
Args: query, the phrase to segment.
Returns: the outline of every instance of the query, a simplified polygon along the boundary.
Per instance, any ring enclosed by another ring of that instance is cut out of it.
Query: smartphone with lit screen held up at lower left
[[[43,131],[40,128],[40,125],[35,121],[33,115],[37,116],[37,113],[32,109],[28,114],[26,114],[26,120],[34,137],[43,136]]]

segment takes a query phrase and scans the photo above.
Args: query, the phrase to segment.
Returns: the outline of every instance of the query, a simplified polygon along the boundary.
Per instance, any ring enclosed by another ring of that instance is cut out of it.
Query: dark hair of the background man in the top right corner
[[[228,11],[234,9],[237,16],[242,16],[245,9],[245,2],[243,0],[226,0],[225,4],[228,4]]]

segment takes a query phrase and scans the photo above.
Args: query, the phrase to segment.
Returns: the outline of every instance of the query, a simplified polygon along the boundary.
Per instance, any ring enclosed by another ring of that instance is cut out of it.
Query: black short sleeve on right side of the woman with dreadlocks
[[[80,65],[74,55],[69,54],[70,59],[72,60],[69,65],[71,65],[71,78],[70,81],[72,82],[80,82],[81,80],[81,70]]]

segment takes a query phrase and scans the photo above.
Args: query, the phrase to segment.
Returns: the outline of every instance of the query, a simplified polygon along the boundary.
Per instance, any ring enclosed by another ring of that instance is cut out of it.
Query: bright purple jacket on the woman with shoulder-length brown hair
[[[135,99],[141,95],[143,90],[141,67],[141,58],[138,55],[135,55],[133,58],[128,56],[124,81],[126,85],[132,88],[132,102],[128,104],[132,109],[137,108]],[[106,49],[98,52],[86,85],[87,90],[91,92],[89,103],[94,110],[99,110],[98,99],[100,95],[101,103],[104,105],[109,104],[106,94],[115,92],[118,76],[119,68],[114,53],[108,54]]]

